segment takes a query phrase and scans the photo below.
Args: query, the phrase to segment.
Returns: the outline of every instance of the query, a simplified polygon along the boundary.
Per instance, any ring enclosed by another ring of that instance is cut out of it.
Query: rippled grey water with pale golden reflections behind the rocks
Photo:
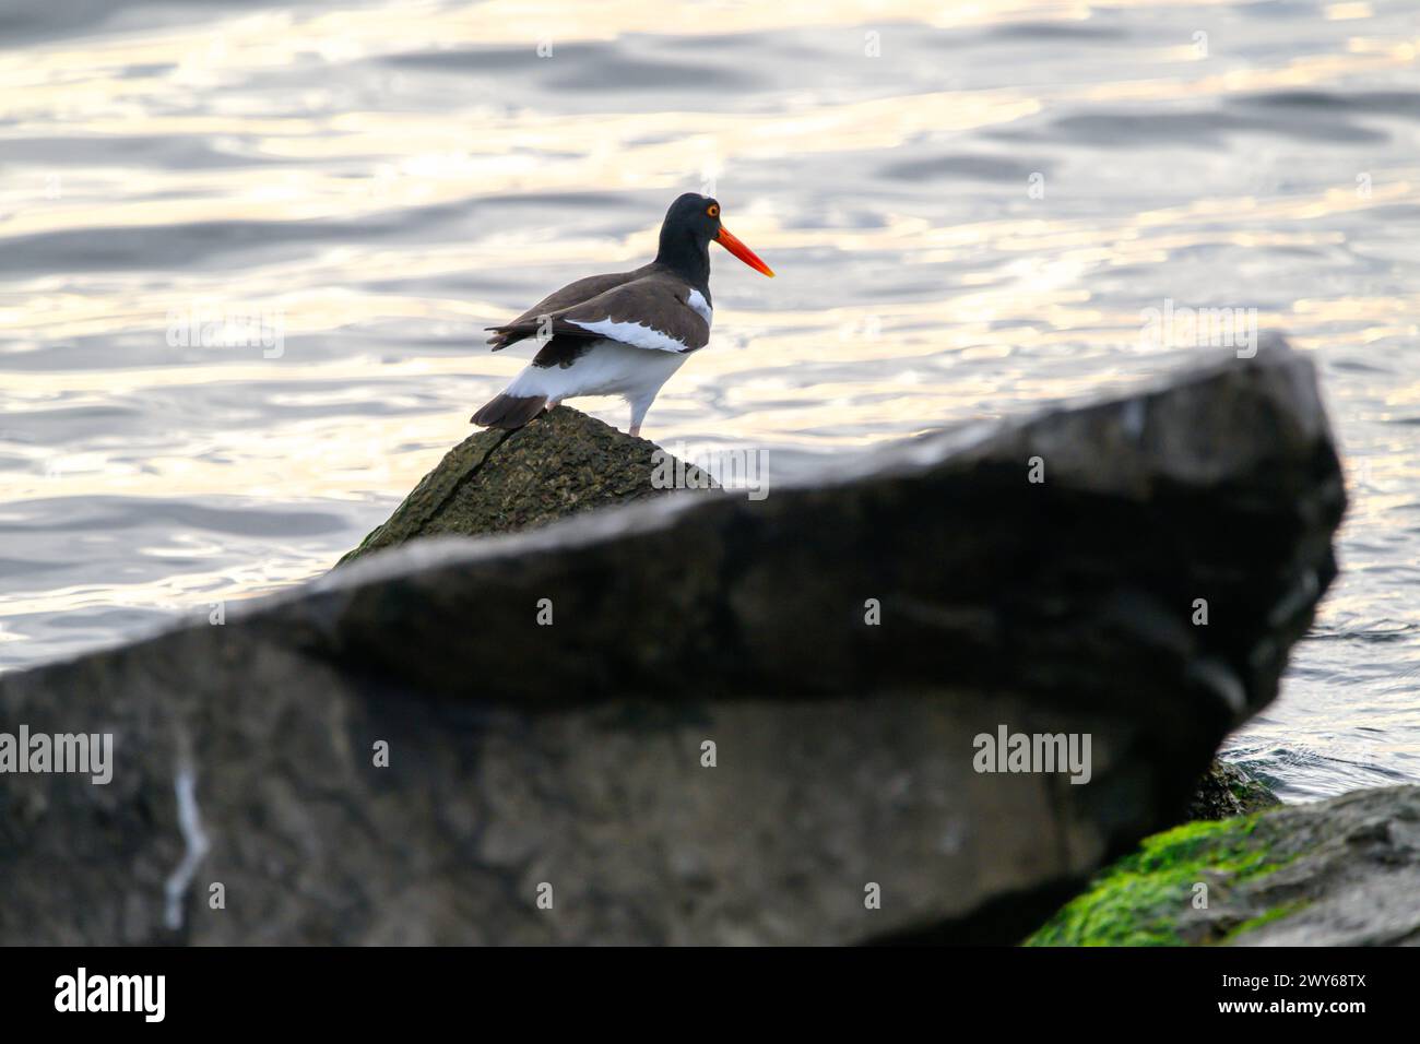
[[[711,190],[780,277],[716,254],[646,433],[780,479],[1127,386],[1166,300],[1287,330],[1345,574],[1230,746],[1289,798],[1420,778],[1417,50],[1409,0],[6,0],[0,666],[325,570],[521,365],[481,327]]]

